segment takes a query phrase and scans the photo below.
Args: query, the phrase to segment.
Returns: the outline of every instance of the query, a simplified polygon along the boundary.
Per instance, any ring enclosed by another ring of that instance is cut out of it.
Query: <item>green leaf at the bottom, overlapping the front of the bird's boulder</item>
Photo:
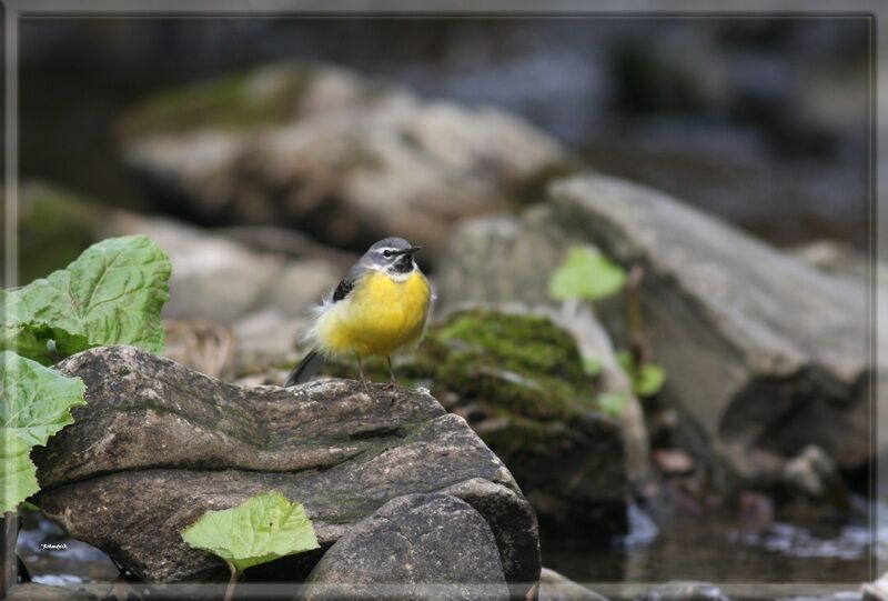
[[[208,511],[181,534],[189,545],[224,559],[238,573],[319,547],[305,509],[280,492],[256,494],[232,509]]]

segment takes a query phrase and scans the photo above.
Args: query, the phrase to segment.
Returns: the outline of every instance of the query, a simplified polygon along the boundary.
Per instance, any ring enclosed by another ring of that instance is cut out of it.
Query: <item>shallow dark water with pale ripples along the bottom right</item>
[[[870,577],[866,523],[774,521],[746,527],[728,514],[675,518],[656,527],[630,508],[632,531],[606,548],[544,541],[544,563],[582,582],[848,583]]]

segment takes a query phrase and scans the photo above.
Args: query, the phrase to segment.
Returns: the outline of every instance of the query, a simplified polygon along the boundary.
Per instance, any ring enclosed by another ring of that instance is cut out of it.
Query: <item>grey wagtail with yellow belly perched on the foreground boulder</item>
[[[307,381],[329,357],[354,355],[370,393],[362,359],[385,357],[395,385],[392,353],[420,341],[432,290],[403,238],[385,238],[349,270],[336,290],[315,311],[306,339],[312,350],[286,377],[284,387]]]

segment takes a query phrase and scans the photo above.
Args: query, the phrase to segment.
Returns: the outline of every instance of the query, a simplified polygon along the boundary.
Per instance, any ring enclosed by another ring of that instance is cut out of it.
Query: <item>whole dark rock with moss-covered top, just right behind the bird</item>
[[[365,367],[387,379],[384,361]],[[352,363],[327,373],[356,377]],[[396,360],[465,418],[512,470],[541,525],[568,537],[625,533],[628,481],[619,423],[597,401],[571,334],[548,315],[475,308],[430,327],[416,353]]]

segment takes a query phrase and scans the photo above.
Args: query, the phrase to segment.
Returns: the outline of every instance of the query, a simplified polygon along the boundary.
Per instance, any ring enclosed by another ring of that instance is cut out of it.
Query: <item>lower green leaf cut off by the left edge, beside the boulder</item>
[[[12,511],[39,490],[29,457],[34,445],[73,422],[85,387],[11,351],[0,351],[0,502]]]

